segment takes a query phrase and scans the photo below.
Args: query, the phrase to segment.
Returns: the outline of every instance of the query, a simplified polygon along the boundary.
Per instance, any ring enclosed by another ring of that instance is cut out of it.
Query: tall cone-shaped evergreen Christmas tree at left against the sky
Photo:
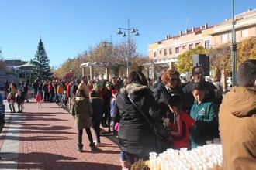
[[[50,79],[50,77],[53,75],[53,73],[50,72],[49,59],[43,47],[43,42],[41,38],[37,46],[37,51],[33,59],[33,64],[35,65],[33,74],[34,79],[47,80]]]

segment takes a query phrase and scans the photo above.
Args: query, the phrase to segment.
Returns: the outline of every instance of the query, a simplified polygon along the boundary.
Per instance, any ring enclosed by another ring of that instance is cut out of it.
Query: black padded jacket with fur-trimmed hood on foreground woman
[[[154,131],[140,112],[133,107],[127,97],[128,94],[151,121],[159,118],[160,110],[150,89],[137,83],[123,87],[116,99],[114,115],[120,117],[118,137],[121,150],[148,158],[150,151],[156,151]]]

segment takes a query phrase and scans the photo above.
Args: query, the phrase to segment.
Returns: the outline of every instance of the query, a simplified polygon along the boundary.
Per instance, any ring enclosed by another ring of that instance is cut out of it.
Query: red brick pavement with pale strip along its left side
[[[92,153],[84,131],[84,152],[75,150],[74,118],[57,104],[43,103],[43,108],[37,108],[32,101],[25,104],[23,113],[9,113],[5,106],[0,169],[121,169],[119,147],[109,138],[101,137],[99,151]]]

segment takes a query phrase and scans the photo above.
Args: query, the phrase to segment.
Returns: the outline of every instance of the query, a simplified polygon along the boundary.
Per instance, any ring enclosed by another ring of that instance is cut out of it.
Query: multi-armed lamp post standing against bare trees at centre
[[[130,66],[129,66],[129,62],[130,62],[130,57],[131,57],[131,53],[130,53],[130,33],[134,34],[134,36],[140,36],[139,30],[133,28],[130,28],[130,21],[128,19],[128,26],[127,28],[118,28],[119,31],[117,32],[118,35],[123,36],[128,38],[128,56],[126,57],[126,71],[127,71],[127,76],[129,76],[130,73]],[[123,32],[122,32],[123,31]],[[126,35],[127,32],[127,35]]]

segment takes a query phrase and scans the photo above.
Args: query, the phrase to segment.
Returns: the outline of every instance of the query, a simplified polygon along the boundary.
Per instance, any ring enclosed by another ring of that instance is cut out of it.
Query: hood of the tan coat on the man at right
[[[256,91],[233,87],[223,97],[221,105],[236,117],[249,117],[256,113]]]

